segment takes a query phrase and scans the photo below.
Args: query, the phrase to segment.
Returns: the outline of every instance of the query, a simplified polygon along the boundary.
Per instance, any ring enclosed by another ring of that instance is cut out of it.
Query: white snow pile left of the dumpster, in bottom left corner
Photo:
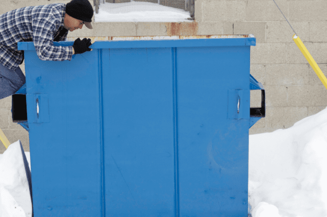
[[[26,155],[29,161],[30,154]],[[0,154],[0,217],[31,216],[30,188],[18,140]]]

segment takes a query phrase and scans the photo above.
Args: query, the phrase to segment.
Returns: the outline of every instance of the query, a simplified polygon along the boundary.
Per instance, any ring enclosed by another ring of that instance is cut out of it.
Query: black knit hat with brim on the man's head
[[[84,21],[87,28],[93,29],[91,25],[93,8],[88,0],[72,0],[66,4],[66,13],[75,19]]]

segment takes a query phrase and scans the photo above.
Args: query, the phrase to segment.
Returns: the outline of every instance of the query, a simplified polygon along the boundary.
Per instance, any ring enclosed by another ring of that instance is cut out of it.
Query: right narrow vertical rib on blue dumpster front
[[[174,215],[180,215],[180,181],[178,166],[178,113],[177,113],[177,48],[171,48],[172,56],[172,114],[173,114],[173,145],[174,145]]]

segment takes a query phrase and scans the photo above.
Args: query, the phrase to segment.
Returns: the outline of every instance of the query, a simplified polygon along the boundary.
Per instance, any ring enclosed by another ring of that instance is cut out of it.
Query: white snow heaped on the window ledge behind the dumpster
[[[148,2],[104,3],[95,22],[193,22],[190,12]]]

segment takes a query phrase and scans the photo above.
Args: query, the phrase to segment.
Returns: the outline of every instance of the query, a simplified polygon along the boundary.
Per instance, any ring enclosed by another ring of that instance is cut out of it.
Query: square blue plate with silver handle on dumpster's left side
[[[48,123],[49,99],[47,94],[27,94],[28,121],[32,123]],[[31,105],[29,104],[31,103]],[[32,111],[31,111],[32,110]]]

